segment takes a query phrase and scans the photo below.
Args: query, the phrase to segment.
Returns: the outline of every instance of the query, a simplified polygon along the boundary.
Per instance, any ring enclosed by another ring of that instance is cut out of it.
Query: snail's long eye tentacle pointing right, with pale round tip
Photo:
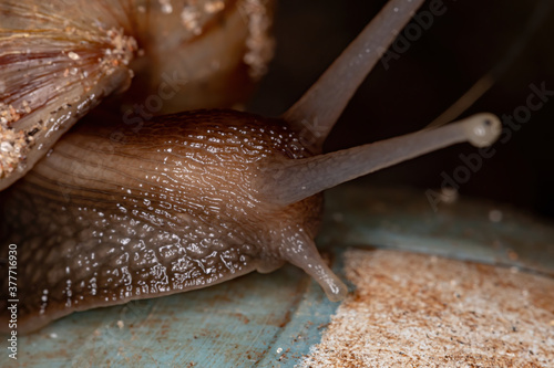
[[[270,202],[290,204],[320,191],[429,154],[469,141],[476,147],[491,145],[501,133],[493,114],[478,114],[434,129],[315,157],[281,160],[268,165],[259,192]],[[279,178],[287,178],[285,182]]]

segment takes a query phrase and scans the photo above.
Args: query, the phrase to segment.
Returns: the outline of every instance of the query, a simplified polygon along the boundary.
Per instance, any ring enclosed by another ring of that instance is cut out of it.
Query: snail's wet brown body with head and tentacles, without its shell
[[[358,85],[422,2],[389,1],[280,118],[205,109],[158,116],[133,132],[96,116],[64,135],[4,198],[10,232],[1,256],[18,244],[19,329],[285,262],[330,299],[343,298],[347,287],[314,243],[320,192],[452,144],[489,145],[500,133],[495,116],[480,114],[321,155]],[[125,83],[119,73],[106,75],[112,90]],[[3,329],[6,275],[4,265]]]

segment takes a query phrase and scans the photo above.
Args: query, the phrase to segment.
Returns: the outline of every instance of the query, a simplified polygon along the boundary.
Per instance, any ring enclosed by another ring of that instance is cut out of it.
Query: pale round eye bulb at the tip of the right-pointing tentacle
[[[475,147],[492,145],[502,133],[502,123],[494,114],[481,113],[466,118],[465,135],[469,143]]]

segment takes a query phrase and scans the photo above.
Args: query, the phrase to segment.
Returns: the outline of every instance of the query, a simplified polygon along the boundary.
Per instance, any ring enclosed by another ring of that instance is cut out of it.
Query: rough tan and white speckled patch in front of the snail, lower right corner
[[[346,253],[356,291],[299,367],[554,367],[554,280],[394,251]]]

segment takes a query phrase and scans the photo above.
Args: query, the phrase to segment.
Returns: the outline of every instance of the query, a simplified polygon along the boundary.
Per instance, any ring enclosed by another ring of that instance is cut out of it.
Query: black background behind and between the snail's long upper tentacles
[[[342,114],[326,150],[336,150],[418,130],[433,120],[491,69],[509,59],[517,40],[524,48],[484,94],[462,116],[492,112],[512,114],[524,105],[529,85],[554,90],[554,8],[551,0],[444,0],[447,12],[408,52],[384,71],[369,75]],[[340,51],[372,19],[386,1],[280,0],[275,33],[277,53],[250,111],[279,115],[287,109]],[[550,8],[538,11],[540,4]],[[429,9],[427,2],[421,9]],[[536,13],[536,11],[535,11]],[[538,18],[541,18],[538,17]],[[538,25],[538,27],[537,27]],[[530,35],[529,30],[536,30]],[[554,217],[554,97],[496,155],[461,186],[462,196],[507,202]],[[470,145],[433,153],[373,174],[376,185],[440,188],[441,172],[462,162]]]

